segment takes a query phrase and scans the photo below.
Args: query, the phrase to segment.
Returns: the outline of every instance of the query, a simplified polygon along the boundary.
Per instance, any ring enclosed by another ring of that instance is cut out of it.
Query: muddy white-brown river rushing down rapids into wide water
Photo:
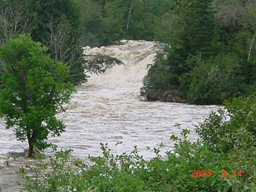
[[[149,159],[154,153],[146,147],[158,147],[163,142],[163,152],[173,148],[170,135],[180,134],[175,123],[191,129],[189,137],[195,140],[195,125],[218,106],[141,101],[143,77],[147,74],[147,65],[153,63],[157,49],[154,42],[129,40],[123,45],[93,48],[86,52],[106,54],[125,65],[115,66],[100,76],[92,75],[87,83],[77,86],[67,111],[58,115],[67,125],[66,131],[50,141],[59,148],[72,148],[72,155],[82,158],[89,154],[100,155],[99,143],[108,143],[115,154],[128,152],[137,145],[140,154]],[[20,145],[28,145],[17,141],[11,130],[4,129],[3,120],[0,120],[0,137],[0,157],[10,151],[20,152],[23,150]],[[122,144],[115,145],[118,141]],[[6,178],[0,174],[0,184],[3,182]]]

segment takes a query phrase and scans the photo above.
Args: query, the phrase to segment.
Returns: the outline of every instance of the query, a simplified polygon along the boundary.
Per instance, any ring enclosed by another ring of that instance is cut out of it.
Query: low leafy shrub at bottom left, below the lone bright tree
[[[70,150],[56,152],[47,163],[40,155],[35,165],[20,168],[20,175],[26,180],[24,190],[90,191],[88,182],[81,174],[87,166],[78,159],[70,161],[69,155]],[[28,176],[30,172],[33,172],[33,177]]]

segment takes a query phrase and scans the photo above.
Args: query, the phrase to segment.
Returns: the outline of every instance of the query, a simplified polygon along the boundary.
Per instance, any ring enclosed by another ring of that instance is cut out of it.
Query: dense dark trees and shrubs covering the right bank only
[[[252,95],[255,13],[255,1],[177,1],[168,19],[171,48],[157,56],[141,95],[192,104]]]

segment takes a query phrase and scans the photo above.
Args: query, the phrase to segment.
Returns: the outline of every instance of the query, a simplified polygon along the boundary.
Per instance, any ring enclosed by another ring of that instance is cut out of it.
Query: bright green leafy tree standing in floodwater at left
[[[46,47],[33,42],[29,35],[11,39],[0,48],[3,74],[0,113],[6,128],[14,128],[18,140],[28,140],[29,156],[33,150],[49,147],[49,134],[60,136],[65,125],[56,113],[65,111],[74,86],[65,83],[69,69],[45,55]]]

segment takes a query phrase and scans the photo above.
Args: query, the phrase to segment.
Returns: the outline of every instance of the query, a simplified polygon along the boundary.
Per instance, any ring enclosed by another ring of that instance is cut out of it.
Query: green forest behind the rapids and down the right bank
[[[141,95],[148,100],[221,104],[254,92],[255,1],[77,2],[82,45],[169,45],[145,77]]]

